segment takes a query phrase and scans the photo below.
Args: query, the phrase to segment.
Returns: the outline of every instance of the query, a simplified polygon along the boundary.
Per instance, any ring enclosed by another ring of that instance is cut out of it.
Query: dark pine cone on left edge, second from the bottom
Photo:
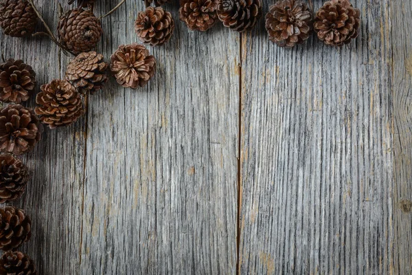
[[[0,250],[14,250],[30,240],[32,221],[23,209],[0,208]]]

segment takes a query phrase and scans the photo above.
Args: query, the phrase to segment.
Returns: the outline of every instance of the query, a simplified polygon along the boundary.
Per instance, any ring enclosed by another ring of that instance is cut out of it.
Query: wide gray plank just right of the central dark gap
[[[393,273],[389,1],[352,2],[341,49],[279,48],[263,19],[242,35],[244,274]]]

